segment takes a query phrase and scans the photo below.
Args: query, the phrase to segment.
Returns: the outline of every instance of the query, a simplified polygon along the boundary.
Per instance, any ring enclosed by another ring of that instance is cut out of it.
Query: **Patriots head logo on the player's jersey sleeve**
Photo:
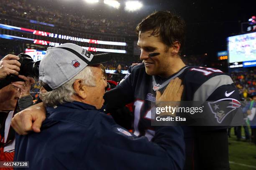
[[[230,112],[241,107],[241,103],[233,98],[223,98],[215,102],[208,102],[208,105],[218,123],[222,123]]]

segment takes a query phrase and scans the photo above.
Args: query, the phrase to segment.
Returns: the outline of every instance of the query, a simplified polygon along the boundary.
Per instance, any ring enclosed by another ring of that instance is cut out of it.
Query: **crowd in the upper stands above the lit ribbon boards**
[[[45,2],[44,2],[45,3]],[[85,13],[67,12],[68,9],[56,10],[51,7],[26,4],[26,0],[3,0],[1,1],[0,14],[12,17],[37,20],[51,23],[55,26],[65,25],[69,28],[81,29],[88,32],[100,32],[110,34],[135,35],[136,22],[117,17],[115,20],[107,18],[88,18]]]

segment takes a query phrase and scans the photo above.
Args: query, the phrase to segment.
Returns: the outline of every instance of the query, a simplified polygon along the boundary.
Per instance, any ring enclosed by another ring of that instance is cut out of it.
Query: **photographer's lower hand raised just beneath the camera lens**
[[[20,98],[30,95],[31,85],[35,83],[35,80],[32,77],[26,77],[24,75],[18,75],[18,77],[25,80],[25,82],[12,82],[12,85],[20,88]]]

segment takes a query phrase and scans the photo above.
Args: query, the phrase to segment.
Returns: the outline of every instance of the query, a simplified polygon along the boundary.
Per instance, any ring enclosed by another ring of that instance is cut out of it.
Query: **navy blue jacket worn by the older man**
[[[15,161],[33,170],[169,169],[184,165],[181,127],[157,127],[152,142],[82,102],[47,107],[41,133],[16,135]]]

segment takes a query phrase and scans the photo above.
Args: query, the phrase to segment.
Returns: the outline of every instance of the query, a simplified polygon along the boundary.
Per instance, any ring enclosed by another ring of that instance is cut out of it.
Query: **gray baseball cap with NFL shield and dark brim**
[[[87,65],[98,65],[110,60],[110,53],[92,55],[89,51],[72,43],[49,47],[39,65],[39,80],[51,91],[65,84]]]

